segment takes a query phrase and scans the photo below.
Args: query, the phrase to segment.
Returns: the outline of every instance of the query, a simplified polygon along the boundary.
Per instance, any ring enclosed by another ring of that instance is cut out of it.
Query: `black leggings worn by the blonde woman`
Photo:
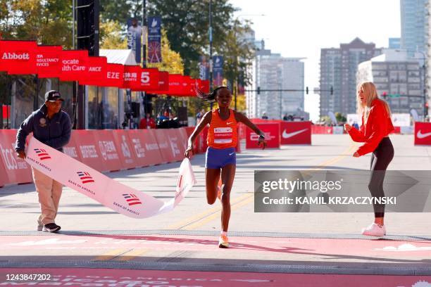
[[[371,177],[368,189],[370,189],[371,196],[381,198],[385,196],[383,191],[383,181],[385,180],[385,174],[389,162],[394,158],[394,146],[389,137],[385,137],[380,141],[380,144],[375,148],[371,155]],[[375,217],[385,216],[385,205],[384,204],[373,204]]]

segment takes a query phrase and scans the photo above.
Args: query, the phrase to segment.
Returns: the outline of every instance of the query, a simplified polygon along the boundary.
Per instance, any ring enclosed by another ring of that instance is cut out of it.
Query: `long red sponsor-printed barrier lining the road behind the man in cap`
[[[178,162],[184,158],[194,127],[179,129],[73,130],[64,153],[99,172]],[[32,182],[30,165],[16,156],[16,129],[0,129],[0,186]],[[206,133],[194,143],[194,153],[206,151]]]

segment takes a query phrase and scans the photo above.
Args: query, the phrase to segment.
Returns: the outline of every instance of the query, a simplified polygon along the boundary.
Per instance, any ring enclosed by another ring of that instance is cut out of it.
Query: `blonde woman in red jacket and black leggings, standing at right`
[[[371,177],[368,189],[375,198],[385,196],[383,180],[387,166],[394,158],[394,147],[388,134],[394,130],[391,120],[391,111],[387,103],[377,98],[377,90],[372,82],[362,82],[356,89],[358,113],[362,115],[361,128],[355,129],[351,125],[344,125],[351,139],[364,142],[354,153],[358,158],[367,153],[371,154]],[[374,204],[374,223],[362,230],[363,235],[385,236],[385,205]]]

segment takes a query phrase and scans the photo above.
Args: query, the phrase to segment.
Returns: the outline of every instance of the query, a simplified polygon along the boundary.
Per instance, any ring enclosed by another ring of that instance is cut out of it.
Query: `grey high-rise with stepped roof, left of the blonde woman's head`
[[[355,38],[339,48],[320,51],[320,117],[328,112],[356,113],[356,72],[358,63],[380,55],[375,44]],[[330,89],[333,89],[333,94]]]

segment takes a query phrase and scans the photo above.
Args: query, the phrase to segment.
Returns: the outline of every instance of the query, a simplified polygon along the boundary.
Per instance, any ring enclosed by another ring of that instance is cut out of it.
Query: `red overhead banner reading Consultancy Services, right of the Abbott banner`
[[[39,78],[60,77],[61,46],[37,46],[36,67]]]

